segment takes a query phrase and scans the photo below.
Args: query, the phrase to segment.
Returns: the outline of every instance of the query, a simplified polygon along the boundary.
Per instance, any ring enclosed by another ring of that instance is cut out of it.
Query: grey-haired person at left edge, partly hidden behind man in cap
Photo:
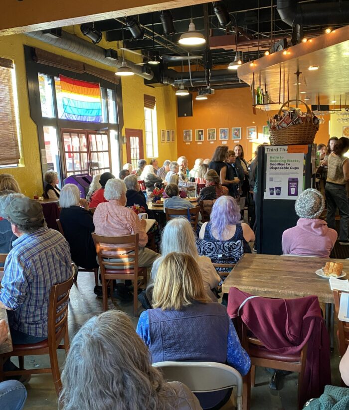
[[[14,191],[4,190],[0,192],[0,254],[8,254],[12,249],[12,241],[17,239],[11,229],[11,224],[7,220],[6,207],[13,198],[21,198],[23,194]],[[0,264],[3,266],[3,264]]]

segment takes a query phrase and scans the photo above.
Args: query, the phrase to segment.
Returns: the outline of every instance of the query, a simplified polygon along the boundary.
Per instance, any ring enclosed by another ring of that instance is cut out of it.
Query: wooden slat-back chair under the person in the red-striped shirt
[[[138,267],[138,244],[139,234],[126,236],[102,236],[92,234],[93,242],[101,269],[102,290],[103,290],[103,311],[108,310],[108,285],[113,300],[113,280],[131,279],[133,280],[133,313],[137,316],[138,311],[138,278],[143,277],[144,284],[147,285],[147,268]],[[117,246],[112,246],[117,245]],[[123,252],[122,255],[110,255],[111,251]],[[132,259],[130,261],[130,259]],[[115,267],[120,269],[108,269]],[[125,268],[125,269],[122,269]]]

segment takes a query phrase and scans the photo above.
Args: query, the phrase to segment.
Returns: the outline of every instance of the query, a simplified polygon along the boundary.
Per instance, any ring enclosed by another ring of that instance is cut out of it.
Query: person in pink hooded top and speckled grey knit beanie
[[[295,203],[297,225],[282,234],[284,255],[330,257],[337,231],[320,219],[324,207],[324,196],[316,189],[306,189],[299,195]]]

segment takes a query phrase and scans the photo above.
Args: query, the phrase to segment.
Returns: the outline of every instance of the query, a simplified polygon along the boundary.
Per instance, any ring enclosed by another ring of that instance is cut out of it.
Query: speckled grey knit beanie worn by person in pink
[[[303,191],[296,200],[295,210],[300,218],[319,218],[325,208],[324,196],[314,188]]]

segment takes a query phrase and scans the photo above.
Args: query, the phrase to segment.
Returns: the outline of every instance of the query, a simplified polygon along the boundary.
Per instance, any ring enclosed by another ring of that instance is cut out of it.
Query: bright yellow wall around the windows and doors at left
[[[67,31],[72,32],[73,28],[69,28]],[[76,28],[75,32],[77,33]],[[92,62],[89,59],[80,57],[71,52],[57,49],[49,44],[29,38],[25,35],[18,34],[0,37],[0,57],[12,59],[15,64],[22,153],[22,159],[19,167],[1,168],[0,173],[12,174],[17,179],[22,192],[31,197],[33,195],[41,194],[43,186],[37,129],[36,125],[31,120],[29,113],[23,45],[39,47],[43,50],[75,59],[77,61],[83,61],[99,68],[109,69],[111,71],[113,71],[113,68],[107,67],[100,63]],[[109,48],[113,45],[115,47],[116,44],[109,43],[107,45],[103,41],[100,45],[104,45],[106,48]],[[127,56],[127,58],[131,59],[132,57]],[[137,59],[138,57],[135,56],[135,58]],[[122,90],[124,100],[124,125],[126,128],[142,129],[144,139],[145,129],[143,95],[150,94],[156,97],[158,111],[159,158],[161,161],[167,159],[170,155],[171,158],[176,158],[177,151],[175,142],[165,143],[162,145],[160,144],[161,129],[176,130],[175,97],[172,87],[147,87],[144,85],[143,78],[135,75],[132,78],[122,80]],[[124,129],[122,130],[123,135]],[[125,144],[123,145],[123,151],[126,151]],[[124,152],[124,162],[126,162],[126,152]]]

